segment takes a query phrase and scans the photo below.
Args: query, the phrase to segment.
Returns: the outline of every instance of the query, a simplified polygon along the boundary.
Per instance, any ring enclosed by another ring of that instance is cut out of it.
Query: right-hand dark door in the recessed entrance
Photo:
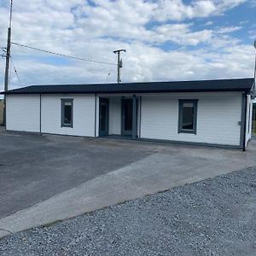
[[[132,133],[132,99],[122,100],[122,135]]]

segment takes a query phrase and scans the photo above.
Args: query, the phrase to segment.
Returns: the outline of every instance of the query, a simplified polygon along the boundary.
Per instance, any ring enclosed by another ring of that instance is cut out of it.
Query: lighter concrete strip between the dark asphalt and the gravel
[[[185,183],[256,166],[256,141],[250,143],[246,152],[103,139],[90,143],[150,154],[0,219],[0,237]]]

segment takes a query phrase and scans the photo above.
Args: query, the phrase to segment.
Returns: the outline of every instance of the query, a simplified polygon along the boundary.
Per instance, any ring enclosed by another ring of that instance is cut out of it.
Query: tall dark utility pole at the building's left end
[[[11,26],[12,26],[13,0],[10,1],[9,8],[9,28],[7,35],[6,59],[5,59],[5,75],[4,75],[4,91],[9,88],[9,58],[10,58],[10,42],[11,42]],[[6,125],[6,95],[3,97],[3,125]]]

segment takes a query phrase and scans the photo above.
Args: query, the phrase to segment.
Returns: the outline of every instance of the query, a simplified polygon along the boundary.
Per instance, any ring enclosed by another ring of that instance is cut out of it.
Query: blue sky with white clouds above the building
[[[14,0],[12,41],[110,63],[114,49],[126,49],[123,82],[245,78],[253,77],[255,14],[256,0]],[[8,21],[9,1],[0,0],[1,47]],[[116,81],[111,65],[11,51],[22,86]],[[11,67],[10,88],[20,86]]]

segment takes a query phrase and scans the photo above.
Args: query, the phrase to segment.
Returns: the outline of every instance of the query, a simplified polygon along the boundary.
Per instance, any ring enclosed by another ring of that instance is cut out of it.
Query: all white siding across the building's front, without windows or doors
[[[138,135],[141,138],[240,145],[241,93],[174,93],[141,96],[142,109],[138,111],[138,125],[141,124],[138,127]],[[73,99],[73,128],[61,127],[61,98]],[[198,99],[196,135],[177,132],[178,99]],[[99,96],[95,95],[42,95],[41,131],[97,137],[98,102]],[[120,134],[120,111],[120,96],[110,96],[110,134]],[[40,131],[38,95],[7,96],[7,130]]]

